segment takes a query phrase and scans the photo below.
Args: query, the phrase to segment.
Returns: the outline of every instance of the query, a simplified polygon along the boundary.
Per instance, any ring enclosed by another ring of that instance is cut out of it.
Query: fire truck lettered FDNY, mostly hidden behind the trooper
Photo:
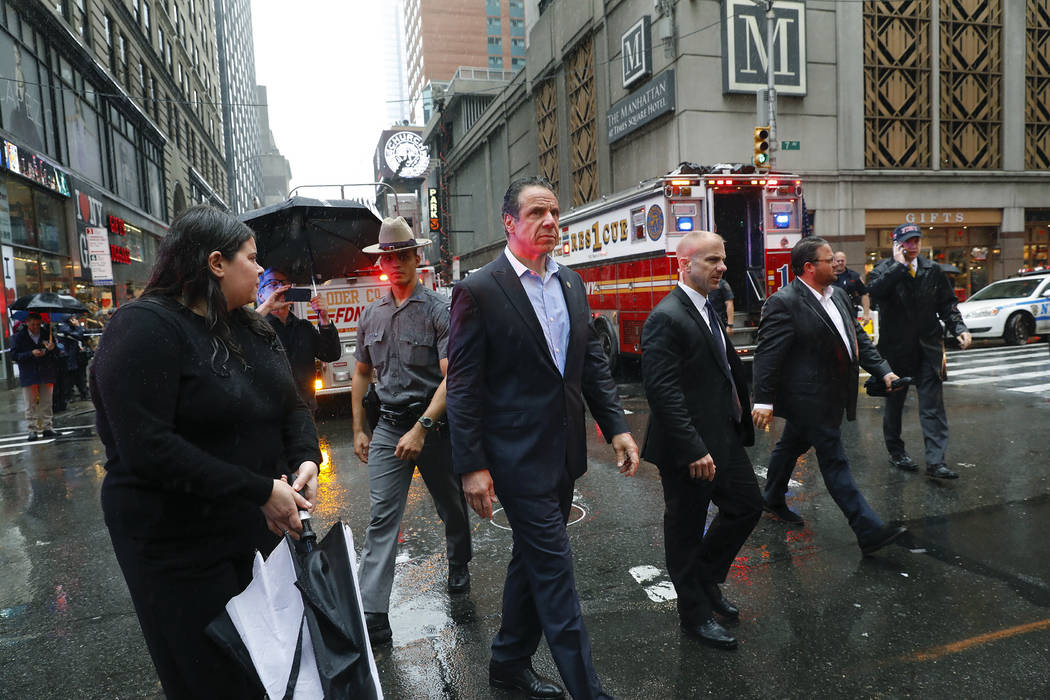
[[[439,294],[448,294],[438,285],[434,268],[419,268],[418,273],[420,284]],[[326,397],[350,394],[356,362],[354,352],[357,347],[357,322],[361,319],[364,307],[386,294],[387,290],[390,282],[378,266],[363,269],[353,277],[330,279],[317,288],[317,294],[321,295],[328,305],[329,320],[339,331],[339,346],[342,351],[339,359],[333,362],[316,360],[314,395],[318,402]],[[310,319],[315,325],[318,323],[317,314],[308,302],[295,302],[292,311],[299,318]]]

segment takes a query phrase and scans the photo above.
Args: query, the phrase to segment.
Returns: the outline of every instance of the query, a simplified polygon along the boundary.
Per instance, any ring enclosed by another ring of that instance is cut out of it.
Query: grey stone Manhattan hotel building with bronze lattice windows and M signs
[[[961,297],[1047,264],[1045,2],[775,7],[776,168],[803,178],[814,233],[863,272],[896,226],[919,224],[924,255],[962,271]],[[499,199],[519,174],[549,177],[569,211],[682,162],[750,163],[769,121],[765,18],[750,0],[539,9],[523,73],[470,119],[471,92],[447,92],[424,130],[464,271],[502,247]]]

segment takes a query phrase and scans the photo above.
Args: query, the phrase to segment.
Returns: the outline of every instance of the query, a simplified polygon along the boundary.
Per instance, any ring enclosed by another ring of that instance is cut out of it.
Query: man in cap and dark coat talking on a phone
[[[944,331],[970,346],[970,333],[959,313],[956,293],[941,267],[919,255],[922,229],[904,224],[894,231],[894,257],[872,271],[868,291],[879,304],[879,352],[894,372],[916,378],[919,423],[926,442],[926,474],[933,479],[958,479],[944,463],[948,447],[948,419],[944,412]],[[917,471],[901,440],[901,415],[907,389],[886,397],[882,434],[889,463],[898,469]]]

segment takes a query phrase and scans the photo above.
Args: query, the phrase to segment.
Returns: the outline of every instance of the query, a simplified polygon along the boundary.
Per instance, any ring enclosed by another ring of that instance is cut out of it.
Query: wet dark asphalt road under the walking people
[[[621,393],[640,437],[647,407],[630,370]],[[644,464],[624,479],[592,433],[570,534],[606,690],[620,698],[1050,697],[1050,397],[989,386],[945,393],[958,482],[887,465],[878,400],[861,396],[858,421],[844,428],[865,496],[910,529],[901,546],[862,558],[815,459],[800,462],[790,505],[805,527],[763,517],[724,587],[743,611],[736,652],[679,632],[666,599],[656,469]],[[912,395],[905,440],[921,458],[915,410]],[[368,488],[350,422],[327,419],[320,433],[330,465],[315,523],[323,531],[344,519],[360,549]],[[759,473],[775,437],[760,434],[750,450]],[[98,439],[76,431],[43,445],[0,442],[0,698],[160,697],[102,523],[102,462]],[[472,592],[452,597],[440,521],[414,480],[394,643],[377,655],[388,698],[521,697],[486,683],[510,533],[500,515],[474,522]],[[536,665],[556,677],[543,644]]]

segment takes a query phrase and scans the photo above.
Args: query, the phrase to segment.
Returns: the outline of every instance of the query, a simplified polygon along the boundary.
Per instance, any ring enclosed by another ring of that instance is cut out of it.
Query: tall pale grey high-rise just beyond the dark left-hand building
[[[230,208],[254,209],[262,198],[258,110],[255,108],[255,50],[250,0],[215,0],[219,94]]]

